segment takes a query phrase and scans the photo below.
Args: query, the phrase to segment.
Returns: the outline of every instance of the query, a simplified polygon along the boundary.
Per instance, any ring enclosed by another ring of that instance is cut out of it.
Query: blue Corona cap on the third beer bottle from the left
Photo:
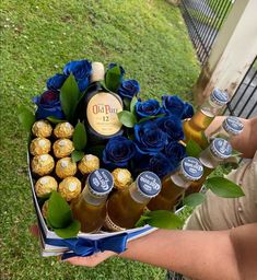
[[[203,167],[201,162],[198,159],[192,156],[187,156],[182,160],[180,170],[183,175],[188,180],[197,180],[203,174]]]

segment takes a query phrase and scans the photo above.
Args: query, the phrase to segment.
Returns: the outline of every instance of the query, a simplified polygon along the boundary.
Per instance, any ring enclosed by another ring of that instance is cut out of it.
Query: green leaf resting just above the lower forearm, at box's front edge
[[[160,229],[178,229],[182,228],[183,221],[171,211],[166,210],[156,210],[156,211],[149,211],[143,214],[143,218],[139,219],[138,223],[149,224]],[[137,223],[137,224],[138,224]]]

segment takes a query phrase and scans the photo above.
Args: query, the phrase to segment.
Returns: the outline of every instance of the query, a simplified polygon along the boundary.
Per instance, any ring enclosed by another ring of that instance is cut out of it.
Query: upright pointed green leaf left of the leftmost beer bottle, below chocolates
[[[70,206],[57,191],[49,198],[47,222],[52,229],[63,229],[72,222]]]

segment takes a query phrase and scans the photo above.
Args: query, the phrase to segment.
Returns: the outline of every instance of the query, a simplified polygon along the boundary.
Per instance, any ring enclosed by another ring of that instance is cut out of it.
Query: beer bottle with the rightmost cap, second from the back
[[[226,117],[222,125],[209,136],[209,140],[214,138],[223,138],[227,141],[234,136],[240,135],[244,129],[244,125],[237,117]]]

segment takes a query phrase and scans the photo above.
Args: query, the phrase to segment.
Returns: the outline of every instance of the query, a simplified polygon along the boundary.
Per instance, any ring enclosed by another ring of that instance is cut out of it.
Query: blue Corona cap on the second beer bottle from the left
[[[155,197],[162,187],[159,176],[150,171],[139,174],[136,185],[140,194],[147,198]]]

